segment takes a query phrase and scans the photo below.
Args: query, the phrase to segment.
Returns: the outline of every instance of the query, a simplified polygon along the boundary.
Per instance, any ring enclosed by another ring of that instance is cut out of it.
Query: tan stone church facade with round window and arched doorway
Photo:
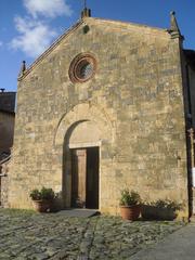
[[[42,185],[62,207],[118,213],[120,190],[192,210],[194,51],[169,29],[82,18],[18,77],[9,206]]]

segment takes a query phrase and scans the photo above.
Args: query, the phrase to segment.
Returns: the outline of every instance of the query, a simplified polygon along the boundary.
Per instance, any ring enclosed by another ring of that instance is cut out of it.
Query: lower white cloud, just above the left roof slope
[[[40,55],[57,35],[54,29],[40,21],[20,16],[16,16],[14,21],[20,35],[11,41],[11,48],[22,50],[30,57]]]

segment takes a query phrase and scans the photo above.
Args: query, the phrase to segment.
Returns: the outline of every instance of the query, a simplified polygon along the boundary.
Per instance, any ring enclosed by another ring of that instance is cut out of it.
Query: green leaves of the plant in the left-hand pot
[[[55,193],[50,187],[42,187],[40,191],[38,188],[35,188],[30,192],[30,198],[32,200],[41,200],[41,199],[53,199],[55,197]]]

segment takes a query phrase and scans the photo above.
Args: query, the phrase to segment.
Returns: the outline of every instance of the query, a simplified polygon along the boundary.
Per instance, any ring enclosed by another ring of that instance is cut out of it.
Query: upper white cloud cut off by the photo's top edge
[[[70,16],[73,13],[66,0],[23,0],[23,2],[34,18],[38,15],[52,18],[58,15]]]

